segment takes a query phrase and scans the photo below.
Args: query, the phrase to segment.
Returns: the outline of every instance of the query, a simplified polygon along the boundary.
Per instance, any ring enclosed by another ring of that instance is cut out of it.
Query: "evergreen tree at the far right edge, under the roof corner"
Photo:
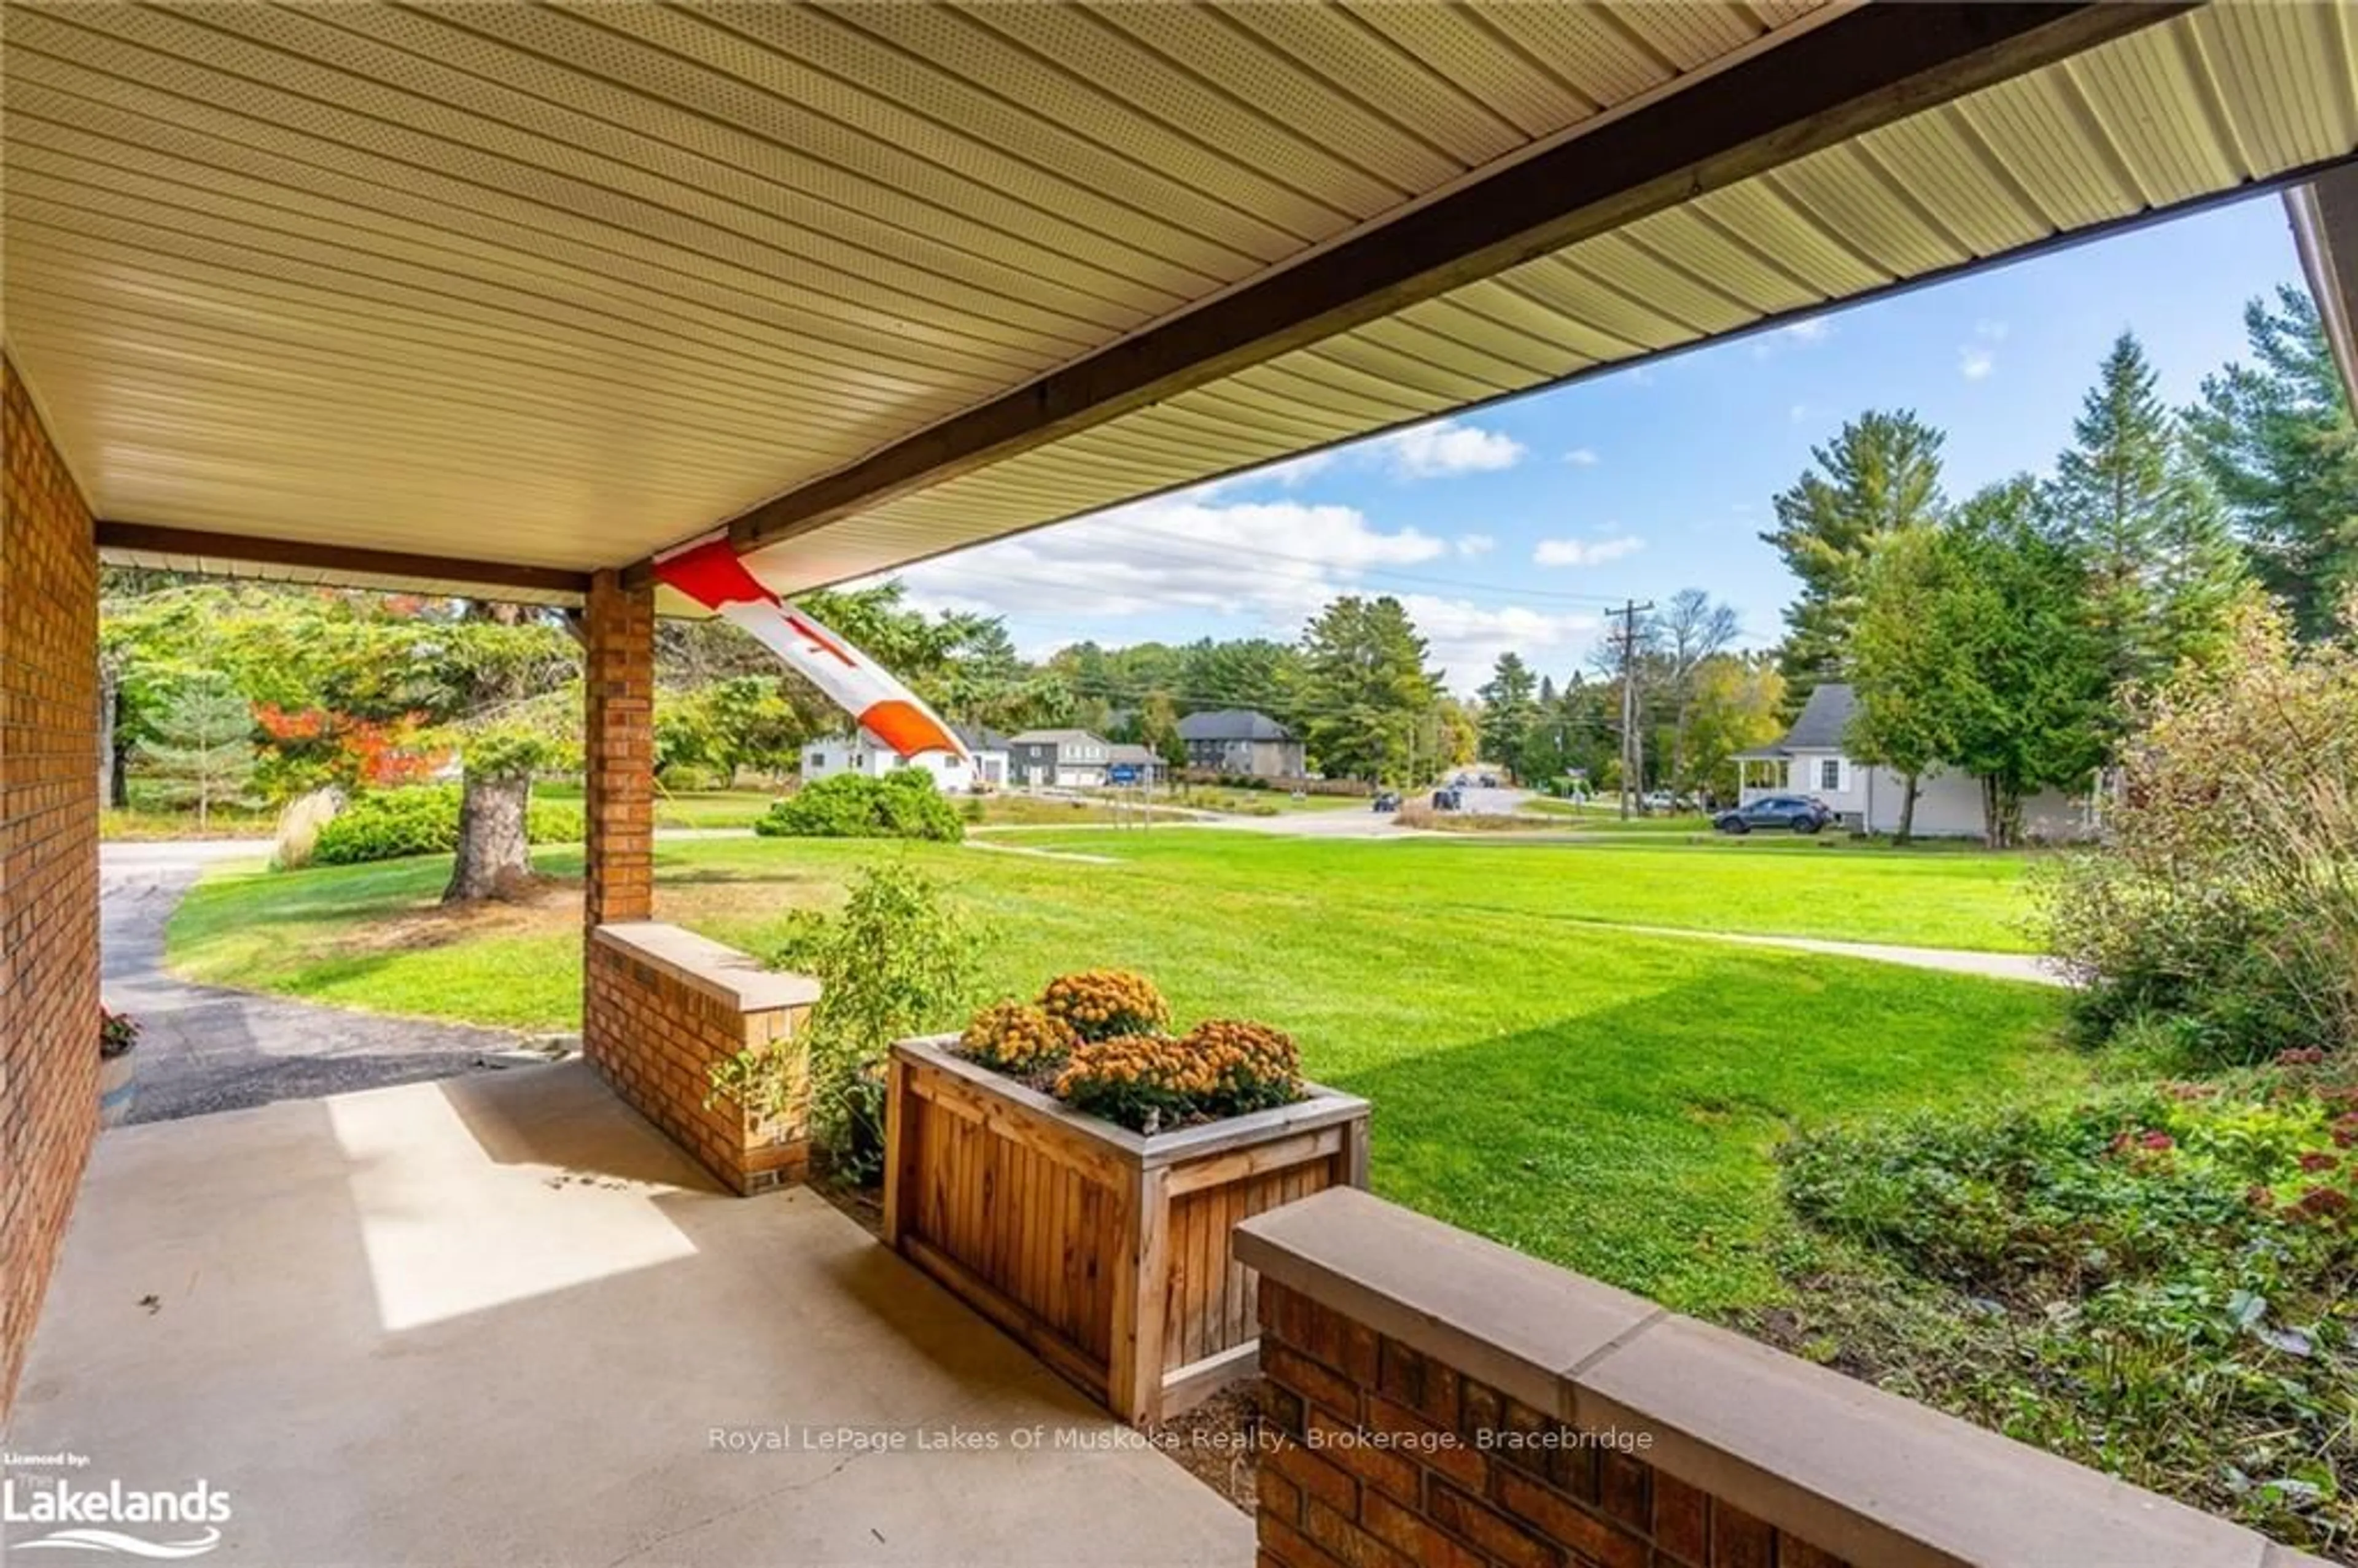
[[[2358,427],[2308,290],[2252,299],[2242,328],[2252,363],[2205,377],[2186,436],[2259,582],[2325,639],[2358,587]]]

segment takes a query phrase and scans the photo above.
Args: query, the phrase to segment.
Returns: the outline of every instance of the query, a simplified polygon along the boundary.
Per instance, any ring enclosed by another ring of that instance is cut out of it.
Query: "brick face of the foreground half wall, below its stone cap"
[[[1262,1375],[1262,1568],[1844,1568],[1269,1278]]]

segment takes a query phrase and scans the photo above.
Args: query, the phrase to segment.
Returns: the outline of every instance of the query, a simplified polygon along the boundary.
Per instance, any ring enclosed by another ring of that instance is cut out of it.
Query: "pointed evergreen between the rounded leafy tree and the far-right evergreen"
[[[2087,615],[2115,698],[2217,648],[2242,580],[2217,495],[2181,455],[2153,382],[2143,347],[2122,332],[2047,495],[2087,564]]]

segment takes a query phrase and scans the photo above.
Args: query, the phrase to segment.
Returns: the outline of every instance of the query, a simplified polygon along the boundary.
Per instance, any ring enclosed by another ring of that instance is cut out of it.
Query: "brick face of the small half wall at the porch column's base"
[[[790,1037],[806,1009],[745,1012],[613,941],[590,936],[582,995],[582,1054],[627,1099],[736,1193],[802,1181],[811,1144],[755,1127],[729,1101],[712,1101],[712,1063]]]

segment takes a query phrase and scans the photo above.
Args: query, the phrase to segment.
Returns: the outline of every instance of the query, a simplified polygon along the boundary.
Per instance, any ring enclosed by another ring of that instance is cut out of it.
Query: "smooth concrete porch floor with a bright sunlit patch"
[[[226,1490],[203,1561],[1252,1561],[849,1217],[722,1195],[582,1063],[104,1134],[5,1436]]]

